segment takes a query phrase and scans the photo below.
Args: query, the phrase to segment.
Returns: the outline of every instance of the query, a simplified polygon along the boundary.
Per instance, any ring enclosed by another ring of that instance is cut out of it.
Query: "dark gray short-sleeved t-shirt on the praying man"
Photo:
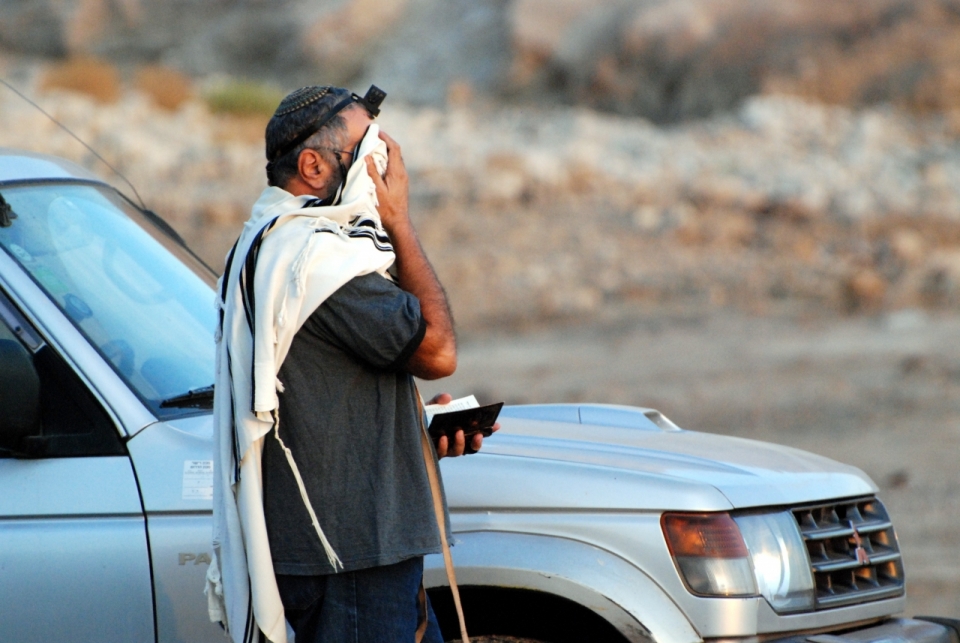
[[[280,369],[280,437],[345,571],[440,551],[403,370],[425,331],[416,297],[378,274],[356,277],[314,311]],[[275,572],[333,573],[273,432],[262,464]]]

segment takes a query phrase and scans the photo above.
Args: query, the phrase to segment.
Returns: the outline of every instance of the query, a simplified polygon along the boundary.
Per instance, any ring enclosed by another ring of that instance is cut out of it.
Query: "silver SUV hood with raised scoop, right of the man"
[[[480,454],[442,461],[451,509],[722,511],[877,491],[859,469],[798,449],[664,429],[649,409],[579,408],[604,412],[575,422],[504,409]]]

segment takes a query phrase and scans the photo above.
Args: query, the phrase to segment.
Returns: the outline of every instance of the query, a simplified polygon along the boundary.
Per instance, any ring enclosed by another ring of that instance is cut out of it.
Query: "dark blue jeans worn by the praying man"
[[[296,643],[413,643],[423,557],[325,576],[277,574]],[[424,643],[443,643],[427,599]]]

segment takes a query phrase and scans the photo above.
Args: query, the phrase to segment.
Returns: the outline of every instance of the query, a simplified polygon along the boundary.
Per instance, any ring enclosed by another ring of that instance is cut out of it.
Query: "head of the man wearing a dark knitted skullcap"
[[[333,196],[372,120],[346,89],[313,86],[292,92],[267,124],[267,182],[292,194]]]

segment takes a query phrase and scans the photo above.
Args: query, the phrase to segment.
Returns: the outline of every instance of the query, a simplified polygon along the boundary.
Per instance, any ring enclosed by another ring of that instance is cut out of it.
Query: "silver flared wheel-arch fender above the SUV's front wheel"
[[[702,640],[649,576],[606,550],[567,538],[502,531],[458,532],[454,543],[458,585],[561,596],[590,609],[631,642]],[[424,585],[448,585],[440,555],[425,558]]]

